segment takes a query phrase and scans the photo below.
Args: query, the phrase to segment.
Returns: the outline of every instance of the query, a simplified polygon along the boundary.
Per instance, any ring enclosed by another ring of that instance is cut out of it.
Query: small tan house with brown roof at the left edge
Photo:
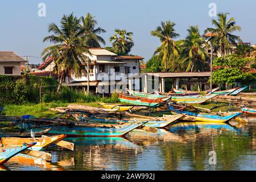
[[[0,52],[0,75],[21,75],[25,60],[14,52]]]

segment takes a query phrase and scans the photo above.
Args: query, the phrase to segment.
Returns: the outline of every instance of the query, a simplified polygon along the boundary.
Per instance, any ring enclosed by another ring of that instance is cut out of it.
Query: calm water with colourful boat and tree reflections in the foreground
[[[3,170],[256,170],[256,117],[248,123],[187,122],[158,133],[136,130],[126,138],[67,138],[75,151],[56,145],[52,162],[20,157]],[[217,164],[210,165],[209,151]]]

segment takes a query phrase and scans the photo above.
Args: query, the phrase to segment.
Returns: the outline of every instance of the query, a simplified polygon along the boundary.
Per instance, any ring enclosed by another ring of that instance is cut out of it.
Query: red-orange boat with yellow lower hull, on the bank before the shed
[[[119,101],[126,102],[129,104],[135,104],[135,105],[143,105],[143,106],[155,106],[158,105],[164,101],[167,101],[170,99],[170,97],[164,97],[164,98],[144,98],[144,97],[135,97],[135,96],[129,96],[127,94],[119,94]]]

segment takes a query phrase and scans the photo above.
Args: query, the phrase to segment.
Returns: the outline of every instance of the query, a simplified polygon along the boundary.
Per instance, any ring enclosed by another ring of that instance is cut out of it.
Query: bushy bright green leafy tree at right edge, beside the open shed
[[[214,84],[230,84],[234,86],[236,82],[247,84],[255,80],[255,77],[246,72],[247,65],[253,59],[241,58],[237,55],[217,57],[213,61],[213,67],[217,68],[213,72]]]

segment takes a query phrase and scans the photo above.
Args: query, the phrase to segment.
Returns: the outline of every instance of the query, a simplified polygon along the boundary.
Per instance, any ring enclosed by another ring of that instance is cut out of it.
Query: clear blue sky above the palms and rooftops
[[[38,16],[38,4],[46,4],[46,17]],[[151,1],[151,0],[9,0],[0,2],[0,51],[14,51],[20,56],[40,56],[48,43],[42,40],[48,33],[48,24],[59,23],[63,14],[72,12],[77,16],[91,13],[96,16],[100,27],[107,32],[102,34],[107,46],[114,28],[125,28],[134,32],[131,53],[145,57],[147,61],[160,42],[150,35],[150,31],[163,20],[176,23],[180,38],[187,35],[187,28],[198,25],[201,33],[211,27],[208,15],[209,3],[216,3],[217,12],[230,13],[242,27],[238,32],[243,42],[256,43],[255,0],[197,0],[197,1]],[[40,63],[40,59],[31,58],[31,63]]]

